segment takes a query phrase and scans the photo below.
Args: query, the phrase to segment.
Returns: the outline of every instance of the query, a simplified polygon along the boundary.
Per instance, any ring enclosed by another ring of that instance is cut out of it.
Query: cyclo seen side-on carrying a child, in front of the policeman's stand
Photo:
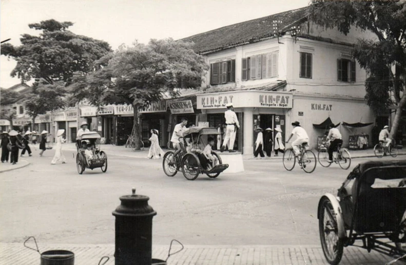
[[[220,173],[228,168],[228,164],[223,164],[221,157],[214,151],[211,152],[217,158],[217,163],[212,168],[207,168],[209,161],[199,150],[203,150],[205,140],[203,136],[218,135],[216,128],[191,127],[183,133],[183,138],[179,138],[181,152],[173,158],[175,152],[170,150],[165,153],[162,166],[167,176],[175,176],[182,169],[183,176],[187,180],[195,180],[199,174],[206,174],[209,178],[217,178]]]

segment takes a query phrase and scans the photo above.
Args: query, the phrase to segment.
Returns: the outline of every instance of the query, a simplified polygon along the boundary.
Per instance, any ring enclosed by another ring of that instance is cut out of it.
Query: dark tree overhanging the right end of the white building
[[[393,139],[406,105],[401,80],[401,73],[406,73],[406,1],[312,0],[307,12],[312,21],[326,28],[337,27],[347,34],[356,26],[376,35],[375,41],[359,39],[353,57],[369,75],[365,99],[376,115],[396,105],[389,136]]]

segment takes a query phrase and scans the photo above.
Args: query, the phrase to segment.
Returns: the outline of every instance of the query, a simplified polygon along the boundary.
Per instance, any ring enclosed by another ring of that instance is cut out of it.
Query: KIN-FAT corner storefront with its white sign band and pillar
[[[292,93],[288,92],[257,90],[207,93],[197,96],[197,108],[202,111],[202,121],[208,122],[210,127],[217,127],[225,122],[226,104],[233,103],[240,123],[234,149],[253,154],[254,129],[279,126],[284,130],[285,117],[293,107],[292,98]]]

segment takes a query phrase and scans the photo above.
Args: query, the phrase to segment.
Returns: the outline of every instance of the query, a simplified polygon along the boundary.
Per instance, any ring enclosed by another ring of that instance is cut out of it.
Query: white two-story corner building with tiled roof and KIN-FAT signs
[[[281,127],[287,139],[291,123],[299,121],[315,148],[325,130],[314,124],[327,118],[335,124],[374,122],[364,100],[366,72],[351,56],[361,36],[373,34],[324,29],[301,8],[183,39],[194,42],[210,65],[197,96],[199,121],[223,123],[225,105],[232,102],[241,124],[235,148],[244,154],[253,153],[257,126]],[[370,134],[371,127],[340,125],[344,145],[351,135]]]

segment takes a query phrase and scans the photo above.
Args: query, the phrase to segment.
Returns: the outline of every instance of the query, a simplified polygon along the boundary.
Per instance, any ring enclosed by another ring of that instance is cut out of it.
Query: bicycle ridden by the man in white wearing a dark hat
[[[302,143],[299,145],[300,156],[298,159],[298,164],[300,168],[306,173],[312,173],[316,169],[317,160],[316,155],[312,150],[306,149],[307,143]],[[292,147],[287,148],[283,154],[283,166],[287,171],[291,171],[296,164],[296,156],[293,152]]]

